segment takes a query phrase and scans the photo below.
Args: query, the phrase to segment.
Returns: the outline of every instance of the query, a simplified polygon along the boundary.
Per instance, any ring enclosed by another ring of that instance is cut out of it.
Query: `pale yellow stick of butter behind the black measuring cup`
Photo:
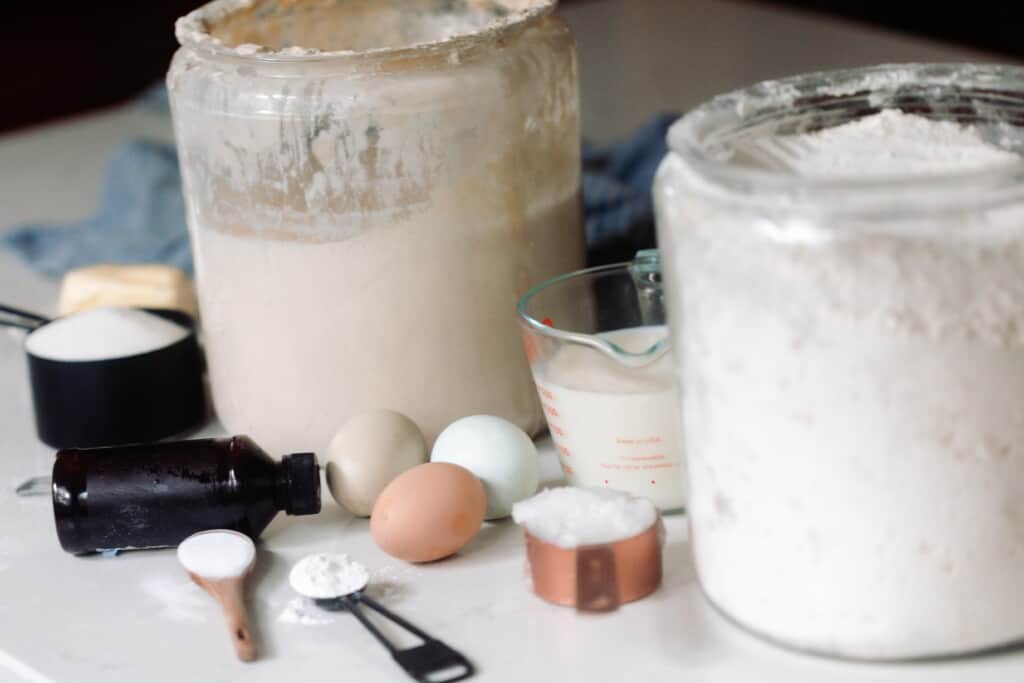
[[[70,270],[60,285],[59,314],[97,306],[171,308],[197,315],[188,276],[161,264],[99,264]]]

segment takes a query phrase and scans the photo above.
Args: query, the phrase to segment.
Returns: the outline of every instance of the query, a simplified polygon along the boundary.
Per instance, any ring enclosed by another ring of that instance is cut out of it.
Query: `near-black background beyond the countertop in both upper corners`
[[[174,19],[200,4],[200,0],[2,2],[0,131],[112,104],[158,81],[176,47]],[[1015,20],[1018,12],[1013,9],[1018,0],[949,4],[773,0],[769,4],[1024,57],[1024,25]]]

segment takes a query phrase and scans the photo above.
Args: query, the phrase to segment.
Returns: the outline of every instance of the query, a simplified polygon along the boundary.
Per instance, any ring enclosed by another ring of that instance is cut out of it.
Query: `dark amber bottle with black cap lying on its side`
[[[256,539],[281,510],[319,509],[316,457],[275,462],[247,436],[66,449],[53,465],[53,515],[69,553],[176,546],[213,528]]]

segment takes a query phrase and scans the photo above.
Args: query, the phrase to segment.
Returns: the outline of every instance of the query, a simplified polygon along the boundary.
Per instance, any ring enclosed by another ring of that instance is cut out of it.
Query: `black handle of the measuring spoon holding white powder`
[[[413,626],[361,591],[337,598],[316,599],[314,602],[326,609],[343,608],[352,612],[378,642],[387,648],[398,666],[421,683],[455,683],[455,681],[463,681],[476,673],[473,665],[461,652]],[[412,633],[423,643],[403,649],[396,647],[370,621],[360,605],[377,611],[392,624]],[[451,675],[441,676],[442,674]]]

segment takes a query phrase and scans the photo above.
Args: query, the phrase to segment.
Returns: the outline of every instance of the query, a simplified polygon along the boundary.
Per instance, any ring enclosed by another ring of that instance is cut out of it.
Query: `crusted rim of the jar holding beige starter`
[[[240,52],[239,46],[225,45],[210,33],[210,24],[230,14],[252,7],[257,0],[211,0],[177,19],[174,34],[178,44],[212,57],[222,57],[246,62],[268,65],[301,65],[311,62],[400,61],[418,59],[427,54],[468,50],[488,40],[505,37],[540,17],[554,11],[558,0],[528,0],[529,6],[512,10],[490,24],[447,38],[424,43],[376,47],[368,50],[308,50],[286,52],[283,50],[253,50]]]

